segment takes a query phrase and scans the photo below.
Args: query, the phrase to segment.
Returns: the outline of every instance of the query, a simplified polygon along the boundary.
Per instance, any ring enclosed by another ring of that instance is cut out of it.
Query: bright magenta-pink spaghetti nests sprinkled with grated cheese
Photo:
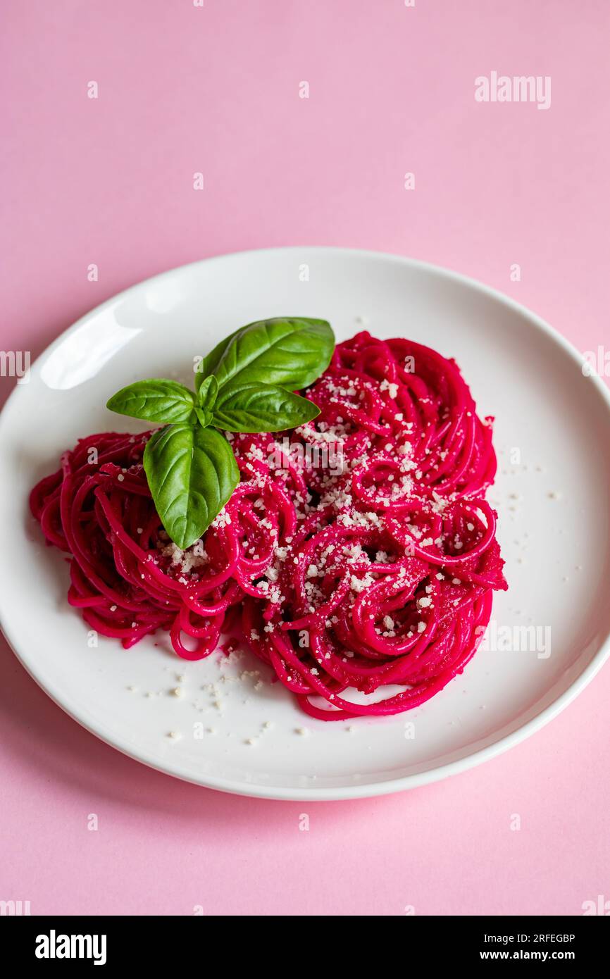
[[[186,551],[151,499],[150,433],[81,439],[31,511],[70,555],[70,605],[125,648],[165,629],[199,660],[239,634],[312,717],[397,714],[462,672],[506,588],[493,419],[453,360],[368,333],[306,395],[321,414],[290,439],[229,436],[241,483]]]

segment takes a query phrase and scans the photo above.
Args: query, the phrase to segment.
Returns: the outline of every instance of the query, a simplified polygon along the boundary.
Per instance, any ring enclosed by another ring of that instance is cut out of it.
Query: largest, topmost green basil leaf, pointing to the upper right
[[[326,370],[334,349],[326,320],[279,316],[250,323],[222,340],[205,358],[202,375],[213,373],[220,387],[255,381],[301,390]]]

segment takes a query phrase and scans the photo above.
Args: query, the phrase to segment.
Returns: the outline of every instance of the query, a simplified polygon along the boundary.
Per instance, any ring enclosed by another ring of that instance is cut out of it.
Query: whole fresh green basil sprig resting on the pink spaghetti
[[[111,411],[164,425],[146,444],[144,471],[164,529],[178,547],[190,547],[204,534],[239,483],[233,449],[216,430],[281,432],[311,421],[319,408],[295,391],[326,370],[334,349],[326,320],[259,320],[203,358],[195,392],[154,378],[111,397]]]

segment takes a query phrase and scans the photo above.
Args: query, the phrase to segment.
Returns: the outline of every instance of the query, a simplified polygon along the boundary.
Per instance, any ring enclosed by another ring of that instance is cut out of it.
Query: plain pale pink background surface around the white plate
[[[289,244],[438,262],[532,307],[581,350],[608,345],[605,0],[10,0],[3,11],[3,350],[39,353],[165,268]],[[475,102],[475,77],[492,70],[550,75],[550,109]],[[3,400],[13,383],[0,381]],[[608,667],[479,769],[304,807],[122,757],[0,642],[0,899],[32,913],[578,914],[610,898]]]

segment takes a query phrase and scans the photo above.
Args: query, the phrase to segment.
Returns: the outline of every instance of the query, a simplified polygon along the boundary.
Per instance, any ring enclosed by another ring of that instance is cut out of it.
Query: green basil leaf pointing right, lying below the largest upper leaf
[[[230,384],[220,388],[211,424],[227,432],[283,432],[319,415],[317,405],[272,384]]]

